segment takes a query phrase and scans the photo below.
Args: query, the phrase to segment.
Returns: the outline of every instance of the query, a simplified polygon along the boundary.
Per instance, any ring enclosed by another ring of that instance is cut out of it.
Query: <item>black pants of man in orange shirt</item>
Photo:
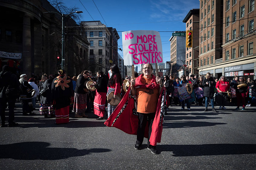
[[[150,142],[149,142],[149,138],[151,135],[151,131],[152,131],[152,124],[155,118],[155,113],[138,113],[139,116],[139,127],[137,130],[137,141],[136,143],[141,145],[143,143],[143,139],[144,139],[144,134],[145,134],[145,128],[148,122],[148,126],[149,126],[149,137],[147,138],[147,145],[149,146]]]

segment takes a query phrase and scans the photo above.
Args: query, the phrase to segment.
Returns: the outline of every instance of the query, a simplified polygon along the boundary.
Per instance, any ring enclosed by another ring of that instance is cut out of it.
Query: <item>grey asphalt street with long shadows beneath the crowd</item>
[[[89,118],[71,113],[68,124],[55,125],[55,118],[25,117],[21,103],[16,107],[19,126],[0,128],[1,170],[256,169],[256,107],[218,113],[170,107],[158,155],[135,150],[135,135],[106,127],[93,112]]]

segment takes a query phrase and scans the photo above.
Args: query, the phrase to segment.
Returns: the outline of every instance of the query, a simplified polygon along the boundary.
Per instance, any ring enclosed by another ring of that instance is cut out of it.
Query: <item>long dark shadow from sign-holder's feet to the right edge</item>
[[[157,145],[160,152],[173,152],[173,156],[256,154],[256,144]]]

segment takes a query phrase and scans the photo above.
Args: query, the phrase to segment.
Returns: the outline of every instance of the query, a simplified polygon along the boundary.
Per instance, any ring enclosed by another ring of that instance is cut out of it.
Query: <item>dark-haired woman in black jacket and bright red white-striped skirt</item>
[[[98,82],[94,85],[96,88],[94,98],[94,114],[99,116],[96,120],[102,120],[105,113],[105,104],[107,96],[107,78],[102,71],[97,71]]]

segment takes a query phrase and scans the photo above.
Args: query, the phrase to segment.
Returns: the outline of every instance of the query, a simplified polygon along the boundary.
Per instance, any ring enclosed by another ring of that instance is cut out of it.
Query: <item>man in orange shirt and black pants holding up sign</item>
[[[157,102],[159,93],[163,88],[163,84],[160,77],[152,75],[153,66],[151,64],[144,64],[142,72],[136,81],[131,79],[131,95],[136,95],[137,99],[137,113],[139,119],[139,126],[137,130],[137,141],[135,149],[140,150],[144,139],[145,127],[148,122],[149,133],[147,149],[153,154],[157,154],[156,146],[150,145],[150,136],[152,131],[152,125],[156,114]],[[134,85],[141,85],[138,88],[134,88]],[[144,85],[144,86],[143,86]]]

